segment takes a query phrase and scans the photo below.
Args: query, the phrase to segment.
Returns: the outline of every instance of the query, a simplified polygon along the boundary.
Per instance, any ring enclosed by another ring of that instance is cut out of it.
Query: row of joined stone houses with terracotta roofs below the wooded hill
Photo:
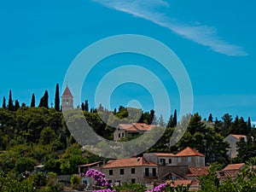
[[[108,160],[106,164],[96,162],[82,165],[79,166],[79,174],[83,184],[95,184],[85,176],[85,172],[90,168],[103,172],[110,183],[148,184],[185,179],[190,167],[203,166],[205,166],[205,156],[188,147],[177,154],[148,153],[143,154],[143,157]]]

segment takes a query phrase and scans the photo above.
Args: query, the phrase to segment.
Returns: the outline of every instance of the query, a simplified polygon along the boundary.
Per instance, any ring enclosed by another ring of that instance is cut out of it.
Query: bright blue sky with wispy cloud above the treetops
[[[183,0],[38,0],[0,3],[0,98],[30,104],[44,90],[54,101],[76,55],[94,42],[119,34],[155,38],[172,49],[189,73],[194,112],[250,116],[256,121],[255,1]],[[147,67],[163,80],[179,108],[177,86],[154,61],[139,55],[117,55],[99,63],[87,77],[83,100],[94,102],[104,74],[125,64]],[[170,89],[169,89],[170,88]],[[139,84],[123,84],[113,92],[114,107],[139,100],[153,108],[152,96]],[[2,100],[2,99],[1,99]],[[0,101],[2,103],[2,101]],[[165,108],[164,106],[162,108]]]

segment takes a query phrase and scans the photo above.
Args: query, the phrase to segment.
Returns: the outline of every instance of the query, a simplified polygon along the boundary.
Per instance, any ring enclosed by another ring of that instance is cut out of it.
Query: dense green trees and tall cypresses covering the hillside
[[[3,186],[8,188],[8,186],[17,185],[22,189],[22,186],[29,179],[32,179],[32,176],[26,176],[26,172],[33,172],[34,166],[41,164],[44,165],[42,169],[44,174],[54,172],[57,175],[72,175],[78,172],[77,166],[79,164],[104,160],[82,150],[81,146],[74,141],[60,112],[58,91],[57,84],[54,108],[49,108],[47,90],[40,100],[40,107],[35,105],[34,94],[32,94],[31,107],[26,107],[25,103],[20,106],[17,100],[14,104],[11,91],[9,91],[8,103],[3,97],[3,108],[0,108],[0,172],[2,172],[0,178],[2,188]],[[247,139],[241,139],[241,142],[237,143],[239,154],[232,162],[246,162],[247,160],[253,162],[253,159],[250,158],[256,156],[256,139],[254,139],[256,138],[256,131],[251,126],[250,119],[245,121],[238,116],[233,119],[229,113],[224,114],[221,119],[215,120],[213,120],[212,114],[209,115],[208,119],[202,119],[199,113],[192,114],[188,129],[183,137],[175,146],[171,147],[170,137],[175,127],[182,125],[182,122],[177,122],[176,110],[168,122],[164,122],[161,116],[159,119],[155,117],[154,110],[143,112],[140,109],[123,106],[120,106],[118,110],[114,109],[113,112],[102,106],[89,109],[88,100],[82,103],[81,108],[85,119],[94,131],[110,140],[113,140],[114,127],[119,122],[156,124],[159,130],[166,125],[165,134],[152,148],[148,149],[148,152],[175,153],[189,146],[205,154],[207,164],[219,162],[226,165],[230,163],[230,160],[226,155],[228,144],[224,143],[223,140],[224,137],[233,133],[247,135]],[[126,137],[123,141],[134,138]],[[151,136],[148,136],[147,140],[150,142]],[[213,176],[210,180],[214,181]],[[55,178],[52,177],[51,180],[48,179],[47,182],[41,184],[44,187],[48,186],[47,189],[49,189],[48,183],[50,182],[55,183]],[[3,183],[5,184],[3,185]],[[74,188],[76,185],[77,181],[73,177]],[[27,185],[26,187],[32,189],[34,186]]]

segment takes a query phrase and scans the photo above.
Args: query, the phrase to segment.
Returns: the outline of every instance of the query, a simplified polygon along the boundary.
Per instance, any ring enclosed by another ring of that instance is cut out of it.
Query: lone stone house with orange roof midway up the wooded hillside
[[[113,133],[113,140],[119,141],[128,136],[135,137],[145,131],[151,131],[156,125],[147,125],[144,123],[119,124]]]

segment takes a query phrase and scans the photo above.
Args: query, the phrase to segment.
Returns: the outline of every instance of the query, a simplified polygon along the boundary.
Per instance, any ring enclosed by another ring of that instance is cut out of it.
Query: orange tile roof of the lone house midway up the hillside
[[[156,125],[147,125],[143,123],[119,124],[119,128],[125,131],[151,131]]]

